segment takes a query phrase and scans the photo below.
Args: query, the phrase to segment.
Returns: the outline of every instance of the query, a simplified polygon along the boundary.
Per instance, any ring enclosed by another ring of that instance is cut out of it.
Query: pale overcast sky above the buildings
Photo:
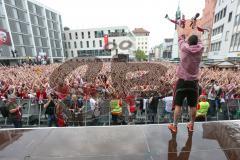
[[[131,30],[143,27],[150,31],[150,47],[164,38],[172,38],[174,25],[164,16],[175,16],[179,0],[37,0],[59,11],[63,26],[85,29],[109,26],[128,26]],[[187,18],[202,14],[205,0],[180,0]]]

